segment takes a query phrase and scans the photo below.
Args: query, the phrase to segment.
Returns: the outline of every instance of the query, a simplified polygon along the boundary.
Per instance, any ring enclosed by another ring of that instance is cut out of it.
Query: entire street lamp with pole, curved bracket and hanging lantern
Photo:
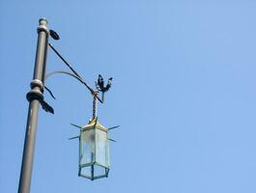
[[[43,107],[43,110],[46,112],[54,113],[53,108],[48,105],[43,99],[43,90],[49,92],[49,94],[54,97],[49,89],[44,86],[44,79],[53,75],[55,73],[64,73],[71,75],[76,78],[80,83],[82,83],[94,96],[94,108],[93,108],[93,119],[86,124],[85,126],[78,126],[80,128],[80,136],[72,137],[70,139],[79,138],[79,177],[84,177],[87,179],[100,179],[108,176],[109,172],[109,150],[108,150],[108,141],[113,141],[113,139],[108,138],[108,130],[116,128],[118,126],[113,126],[106,128],[98,123],[98,117],[96,114],[97,101],[103,103],[104,93],[109,90],[111,87],[112,78],[108,79],[106,85],[104,85],[104,80],[99,74],[99,79],[96,82],[96,90],[92,89],[82,77],[71,68],[71,65],[62,57],[62,55],[53,47],[51,43],[48,42],[49,36],[54,40],[59,40],[59,35],[53,30],[48,30],[47,20],[41,18],[39,20],[38,27],[38,45],[36,53],[36,62],[34,68],[33,80],[30,83],[31,91],[27,94],[27,99],[29,101],[28,108],[28,117],[25,133],[25,142],[23,148],[22,164],[19,177],[18,193],[29,193],[31,176],[33,169],[33,159],[35,152],[36,144],[36,133],[37,133],[37,124],[38,124],[38,112],[40,104]],[[66,64],[66,66],[71,69],[69,71],[57,70],[45,75],[46,69],[46,56],[47,56],[47,47],[49,47],[57,54],[57,56]],[[98,93],[101,93],[101,98],[98,96]],[[55,98],[55,97],[54,97]],[[89,132],[90,131],[90,132]],[[92,134],[92,133],[93,134]],[[88,134],[89,133],[89,134]],[[88,140],[90,136],[93,136],[93,140]],[[86,154],[88,147],[94,146],[95,149],[90,149],[90,155]],[[90,162],[86,162],[88,157],[91,157]],[[84,173],[85,169],[90,168],[90,174]],[[103,172],[99,172],[98,168]]]

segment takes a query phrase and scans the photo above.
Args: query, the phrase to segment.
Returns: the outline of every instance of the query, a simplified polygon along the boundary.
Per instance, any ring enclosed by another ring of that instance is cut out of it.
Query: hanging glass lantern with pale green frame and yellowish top
[[[94,180],[107,177],[108,172],[108,129],[93,119],[80,129],[78,176]]]

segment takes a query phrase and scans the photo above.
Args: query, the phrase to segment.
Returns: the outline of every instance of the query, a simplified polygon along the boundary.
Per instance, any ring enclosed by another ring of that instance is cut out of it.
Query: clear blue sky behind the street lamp
[[[108,179],[77,177],[77,134],[92,98],[65,75],[46,85],[31,192],[255,193],[256,2],[0,2],[0,192],[16,192],[38,19],[52,43],[94,85],[113,76],[100,123],[111,137]],[[66,69],[49,50],[47,71]]]

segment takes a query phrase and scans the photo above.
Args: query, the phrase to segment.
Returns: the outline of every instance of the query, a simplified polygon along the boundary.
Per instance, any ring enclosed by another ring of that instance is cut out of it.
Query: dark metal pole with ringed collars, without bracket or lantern
[[[40,102],[43,101],[43,83],[48,45],[48,29],[47,20],[45,18],[41,18],[39,20],[38,34],[38,46],[34,69],[34,77],[30,84],[31,91],[27,94],[29,108],[22,156],[22,165],[19,177],[18,193],[30,192],[38,124],[38,112]]]

